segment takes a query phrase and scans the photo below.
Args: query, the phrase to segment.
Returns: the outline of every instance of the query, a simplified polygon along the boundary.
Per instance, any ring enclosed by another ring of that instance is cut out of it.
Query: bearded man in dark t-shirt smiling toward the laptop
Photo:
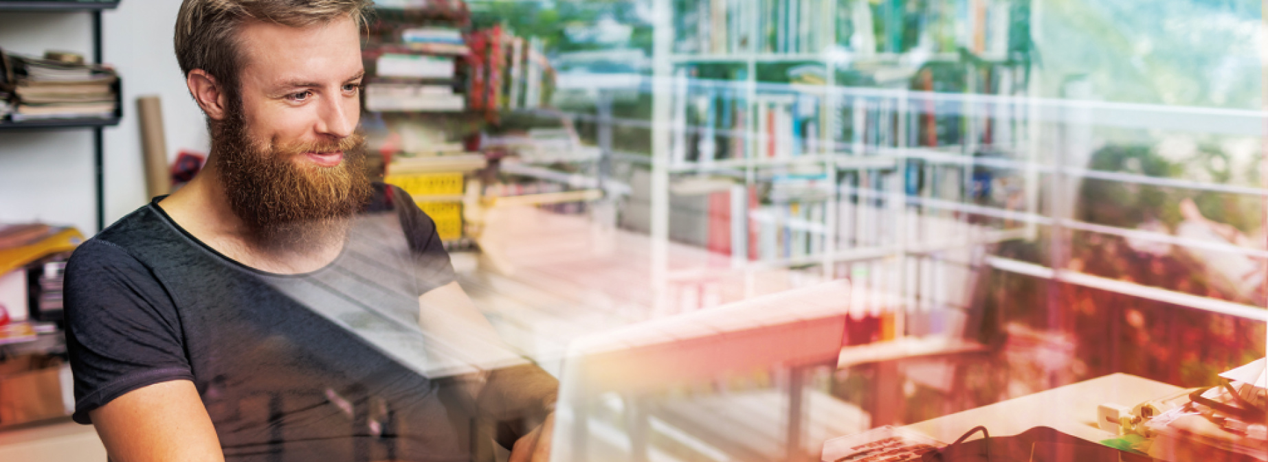
[[[495,438],[545,457],[557,382],[498,347],[435,223],[365,175],[368,8],[181,4],[207,168],[66,270],[74,419],[112,461],[469,461]]]

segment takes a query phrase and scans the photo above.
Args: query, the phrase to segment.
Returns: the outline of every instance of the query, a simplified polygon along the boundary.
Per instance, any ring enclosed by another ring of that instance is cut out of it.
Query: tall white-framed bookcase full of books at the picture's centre
[[[1014,191],[1008,208],[1037,210],[1035,172],[983,163],[1036,152],[1035,127],[1017,114],[1033,85],[1026,5],[654,3],[648,191],[659,304],[678,303],[676,287],[701,273],[664,256],[681,239],[681,196],[708,197],[696,200],[705,246],[729,254],[710,277],[729,273],[753,295],[758,271],[786,268],[899,294],[864,303],[883,314],[881,338],[910,330],[898,305],[971,285],[973,244],[1033,237],[1033,225],[928,206],[998,205],[990,185],[1007,177],[1031,192]],[[948,254],[955,268],[941,262]],[[942,287],[922,287],[936,278],[922,272],[942,275]],[[967,303],[952,299],[941,301]]]

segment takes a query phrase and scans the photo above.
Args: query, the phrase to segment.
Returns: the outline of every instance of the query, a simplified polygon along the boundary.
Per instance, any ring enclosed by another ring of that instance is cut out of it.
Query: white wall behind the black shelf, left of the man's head
[[[136,97],[162,99],[169,159],[181,148],[207,152],[202,113],[176,66],[171,35],[180,1],[123,0],[103,15],[103,54],[123,77],[123,122],[105,129],[105,223],[145,205]],[[0,13],[0,48],[91,57],[85,13]],[[90,130],[0,132],[0,223],[43,220],[96,232]]]

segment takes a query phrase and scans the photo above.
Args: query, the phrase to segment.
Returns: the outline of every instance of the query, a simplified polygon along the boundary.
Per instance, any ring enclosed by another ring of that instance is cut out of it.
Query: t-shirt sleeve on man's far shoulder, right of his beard
[[[454,266],[436,232],[436,222],[427,216],[404,190],[388,186],[385,192],[392,196],[392,204],[401,216],[401,228],[404,229],[406,240],[410,243],[418,294],[453,282]]]

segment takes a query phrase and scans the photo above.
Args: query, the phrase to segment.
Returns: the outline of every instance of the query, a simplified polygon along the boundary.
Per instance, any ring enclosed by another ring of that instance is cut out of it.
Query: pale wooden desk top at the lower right
[[[1044,425],[1087,440],[1099,442],[1113,438],[1115,434],[1097,427],[1097,405],[1113,403],[1135,406],[1142,401],[1173,395],[1182,390],[1178,386],[1149,378],[1112,373],[943,415],[905,428],[948,444],[976,425],[985,425],[993,437],[1014,435]]]

